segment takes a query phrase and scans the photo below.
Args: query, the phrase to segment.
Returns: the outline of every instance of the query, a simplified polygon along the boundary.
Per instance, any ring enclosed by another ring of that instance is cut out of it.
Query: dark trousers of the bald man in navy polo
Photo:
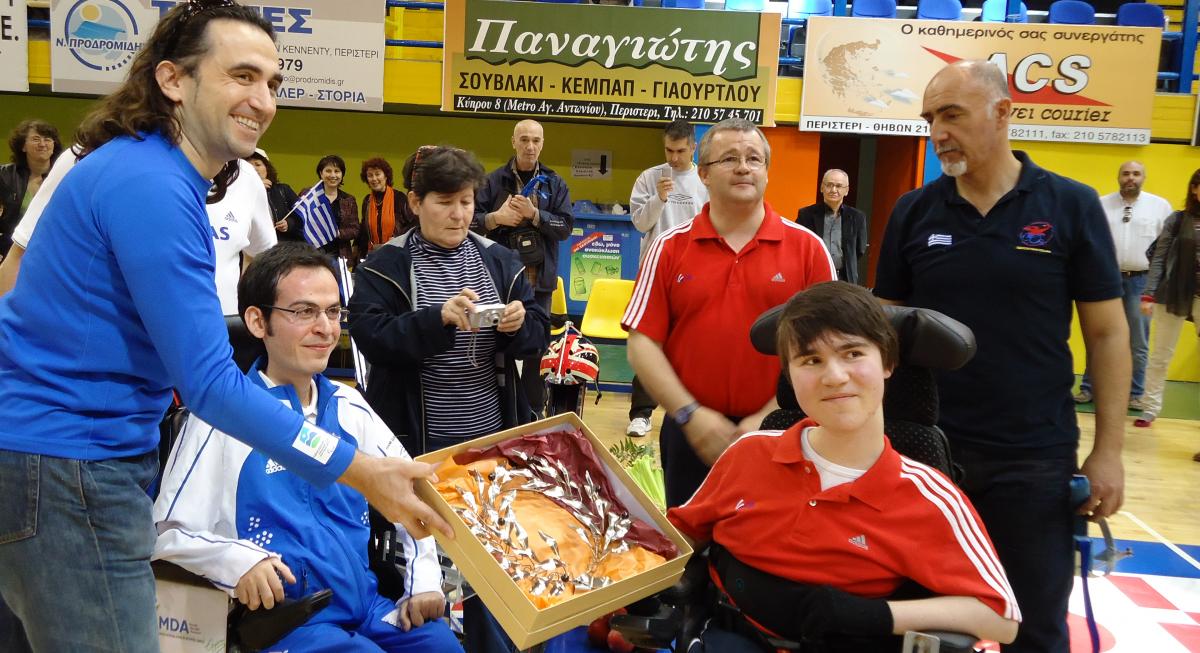
[[[1004,653],[1069,653],[1067,600],[1075,569],[1068,484],[1074,457],[1002,460],[953,447],[959,484],[996,546],[1024,621]]]

